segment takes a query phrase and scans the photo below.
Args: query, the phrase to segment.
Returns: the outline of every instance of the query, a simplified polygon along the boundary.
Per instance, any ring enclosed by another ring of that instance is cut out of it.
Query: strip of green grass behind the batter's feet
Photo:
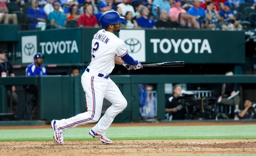
[[[69,129],[65,140],[92,140],[90,129]],[[256,125],[110,127],[106,135],[112,140],[256,139]],[[49,141],[52,136],[50,128],[0,130],[0,141]]]

